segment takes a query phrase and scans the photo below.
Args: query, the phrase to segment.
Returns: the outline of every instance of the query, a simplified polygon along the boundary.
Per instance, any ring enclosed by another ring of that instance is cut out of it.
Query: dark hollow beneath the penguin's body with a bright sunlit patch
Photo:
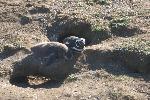
[[[58,88],[63,84],[63,81],[53,81],[50,78],[44,76],[30,75],[27,77],[17,77],[10,79],[9,82],[12,85],[16,85],[22,88]]]

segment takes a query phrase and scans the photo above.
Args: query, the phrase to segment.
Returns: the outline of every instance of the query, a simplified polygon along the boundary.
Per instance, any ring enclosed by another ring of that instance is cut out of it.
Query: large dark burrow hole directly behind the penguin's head
[[[78,18],[55,19],[56,21],[47,26],[47,37],[51,41],[63,42],[66,37],[77,36],[85,38],[86,46],[100,43],[101,41],[110,37],[107,30],[94,30],[90,22]]]

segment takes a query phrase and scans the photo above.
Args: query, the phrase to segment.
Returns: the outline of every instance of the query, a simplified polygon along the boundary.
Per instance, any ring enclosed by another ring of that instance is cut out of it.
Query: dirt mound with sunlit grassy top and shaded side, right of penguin
[[[116,62],[116,64],[122,64],[122,66],[126,66],[133,71],[150,73],[148,38],[149,34],[144,34],[128,39],[118,38],[113,42],[106,41],[103,44],[87,47],[85,50],[87,62],[93,64]]]

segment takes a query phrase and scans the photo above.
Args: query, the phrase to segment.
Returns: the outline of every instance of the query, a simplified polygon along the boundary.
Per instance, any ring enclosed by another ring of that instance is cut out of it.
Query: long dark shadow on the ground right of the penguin
[[[120,52],[120,51],[119,51]],[[146,68],[149,68],[149,63],[148,62],[140,62],[137,59],[132,58],[131,56],[127,56],[127,58],[124,58],[125,55],[123,54],[118,54],[119,52],[116,53],[116,51],[96,51],[96,52],[91,52],[88,53],[86,57],[86,64],[88,64],[88,69],[89,70],[100,70],[104,69],[108,73],[120,76],[120,75],[126,75],[129,77],[134,77],[134,78],[143,78],[145,81],[150,81],[150,75],[149,73],[146,73],[144,70],[148,70]],[[131,61],[136,64],[136,61],[138,61],[138,64],[136,67],[143,67],[141,69],[136,68],[134,65],[130,66],[128,65],[128,62],[125,62],[125,59],[129,59],[128,57],[132,58]],[[137,57],[138,58],[138,57]],[[145,64],[146,63],[146,64]],[[143,66],[142,66],[143,64]],[[145,64],[145,66],[144,66]],[[143,72],[140,72],[143,71]],[[149,71],[149,70],[148,70]]]

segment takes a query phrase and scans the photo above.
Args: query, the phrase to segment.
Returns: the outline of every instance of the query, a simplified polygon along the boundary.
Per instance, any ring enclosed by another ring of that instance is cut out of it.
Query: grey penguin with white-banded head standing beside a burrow
[[[63,43],[43,42],[31,47],[31,54],[14,63],[10,83],[27,82],[27,76],[38,75],[64,80],[77,71],[74,65],[84,50],[85,39],[70,36]]]

